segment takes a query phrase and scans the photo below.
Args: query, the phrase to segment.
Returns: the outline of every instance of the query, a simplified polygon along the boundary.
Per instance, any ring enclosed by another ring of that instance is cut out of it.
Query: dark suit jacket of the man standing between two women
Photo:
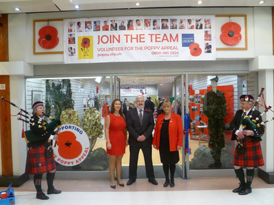
[[[152,131],[154,129],[154,118],[152,111],[144,109],[142,126],[136,107],[127,112],[127,131],[129,132],[129,146],[151,146]],[[138,141],[140,135],[145,135],[145,141]]]

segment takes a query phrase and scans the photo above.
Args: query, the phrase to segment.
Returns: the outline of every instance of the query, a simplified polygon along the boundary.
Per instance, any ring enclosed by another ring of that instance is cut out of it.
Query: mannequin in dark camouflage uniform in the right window
[[[227,115],[227,105],[225,103],[225,94],[217,90],[218,80],[218,77],[210,79],[212,90],[205,94],[203,102],[203,112],[208,117],[210,131],[208,146],[216,152],[213,156],[214,163],[208,166],[210,168],[221,168],[221,149],[225,147],[223,122]]]

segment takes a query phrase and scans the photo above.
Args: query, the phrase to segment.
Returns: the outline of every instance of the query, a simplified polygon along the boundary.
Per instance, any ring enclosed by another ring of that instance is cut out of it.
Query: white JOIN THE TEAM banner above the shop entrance
[[[213,15],[64,19],[64,64],[215,59]]]

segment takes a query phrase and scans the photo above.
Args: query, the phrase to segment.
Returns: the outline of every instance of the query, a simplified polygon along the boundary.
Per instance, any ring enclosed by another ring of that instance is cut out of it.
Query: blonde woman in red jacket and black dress
[[[164,187],[174,187],[175,166],[179,161],[179,150],[183,146],[183,126],[181,116],[171,112],[171,102],[165,100],[162,105],[164,113],[158,115],[155,133],[153,137],[153,148],[160,151],[160,159],[163,164],[166,182]],[[169,180],[169,170],[171,180]]]

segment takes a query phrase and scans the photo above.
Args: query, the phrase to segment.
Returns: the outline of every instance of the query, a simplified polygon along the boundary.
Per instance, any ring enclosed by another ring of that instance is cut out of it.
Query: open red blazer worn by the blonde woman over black
[[[160,146],[160,134],[162,123],[164,122],[164,113],[158,115],[154,137],[152,144],[157,146],[157,150]],[[171,120],[169,121],[169,148],[171,152],[177,150],[177,146],[183,146],[183,126],[181,116],[175,113],[171,113]]]

